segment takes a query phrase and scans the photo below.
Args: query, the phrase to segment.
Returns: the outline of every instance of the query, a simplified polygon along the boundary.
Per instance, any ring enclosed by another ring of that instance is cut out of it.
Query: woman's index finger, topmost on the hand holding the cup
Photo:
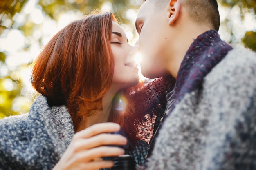
[[[89,138],[101,133],[117,132],[120,130],[120,125],[112,122],[94,124],[85,130],[76,133],[76,138]]]

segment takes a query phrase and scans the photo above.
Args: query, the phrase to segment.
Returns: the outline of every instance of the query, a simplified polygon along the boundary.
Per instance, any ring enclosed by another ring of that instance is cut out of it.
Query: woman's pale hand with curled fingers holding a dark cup
[[[113,161],[103,161],[101,157],[124,154],[124,149],[109,145],[125,145],[122,135],[109,134],[120,130],[119,124],[94,124],[74,135],[70,145],[53,170],[98,170],[110,168]]]

